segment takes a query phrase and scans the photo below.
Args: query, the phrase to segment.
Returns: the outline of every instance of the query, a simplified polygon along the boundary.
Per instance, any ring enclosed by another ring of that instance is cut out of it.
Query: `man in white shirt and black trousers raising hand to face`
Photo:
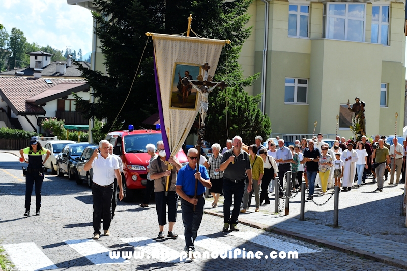
[[[112,215],[112,199],[114,191],[114,177],[118,180],[119,199],[122,200],[123,187],[122,175],[119,171],[119,161],[109,154],[109,141],[101,140],[99,149],[95,149],[91,158],[86,162],[83,169],[89,171],[93,169],[93,239],[100,237],[100,221],[103,218],[104,235],[110,235],[109,227]],[[99,153],[100,150],[100,153]]]

